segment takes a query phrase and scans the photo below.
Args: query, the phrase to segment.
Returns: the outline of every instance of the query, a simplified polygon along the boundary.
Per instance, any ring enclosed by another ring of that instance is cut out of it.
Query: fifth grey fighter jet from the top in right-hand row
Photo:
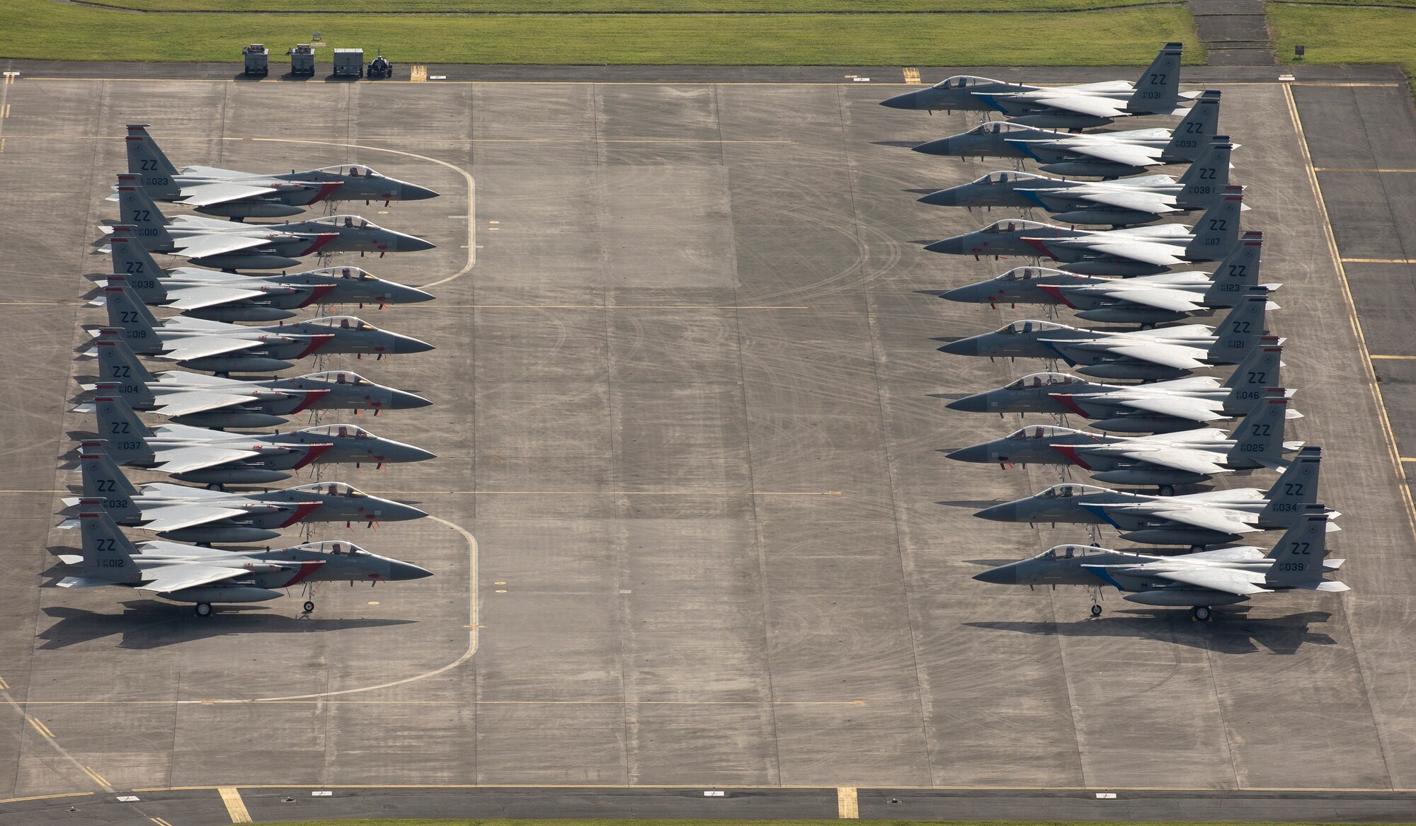
[[[1117,279],[1079,276],[1048,267],[1012,267],[987,281],[939,293],[940,298],[969,304],[1044,304],[1069,307],[1086,321],[1140,324],[1150,328],[1181,321],[1191,313],[1233,307],[1259,286],[1262,232],[1245,232],[1243,240],[1215,273],[1184,272]],[[1283,284],[1263,284],[1269,291]],[[1269,308],[1277,308],[1270,303]]]

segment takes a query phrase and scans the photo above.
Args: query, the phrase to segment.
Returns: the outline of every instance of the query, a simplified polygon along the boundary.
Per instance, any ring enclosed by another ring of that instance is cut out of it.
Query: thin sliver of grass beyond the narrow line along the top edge
[[[82,0],[142,11],[391,11],[473,14],[1083,11],[1175,0]]]

